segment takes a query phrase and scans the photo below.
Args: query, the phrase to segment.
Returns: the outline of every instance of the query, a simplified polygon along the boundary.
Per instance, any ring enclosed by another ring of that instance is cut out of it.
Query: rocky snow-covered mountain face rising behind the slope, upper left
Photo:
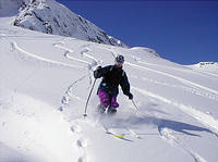
[[[23,0],[14,25],[46,34],[128,47],[55,0]]]

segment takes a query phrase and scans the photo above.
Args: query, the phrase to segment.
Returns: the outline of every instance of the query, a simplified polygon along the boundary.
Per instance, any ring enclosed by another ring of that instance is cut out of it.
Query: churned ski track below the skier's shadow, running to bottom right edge
[[[173,134],[174,132],[169,128],[158,128],[158,132],[162,139],[167,140],[170,145],[178,146],[181,149],[183,149],[185,152],[187,152],[195,162],[207,162],[204,158],[202,158],[198,153],[194,152],[192,149],[189,148],[189,146],[185,146],[179,137],[175,137]]]

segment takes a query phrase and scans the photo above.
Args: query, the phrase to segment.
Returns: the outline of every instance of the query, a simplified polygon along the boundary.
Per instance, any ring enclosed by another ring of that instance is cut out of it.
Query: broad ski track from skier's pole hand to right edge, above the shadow
[[[183,103],[179,103],[178,101],[173,101],[170,99],[167,99],[165,97],[158,96],[154,92],[147,91],[147,90],[142,90],[141,88],[137,87],[132,87],[134,90],[144,94],[146,96],[149,96],[152,98],[158,99],[162,102],[166,102],[168,104],[171,104],[173,107],[179,108],[180,110],[182,110],[183,112],[185,112],[187,115],[196,119],[199,123],[204,124],[205,126],[209,127],[213,129],[214,135],[216,137],[218,137],[217,133],[218,133],[218,120],[214,119],[211,115],[206,114],[202,111],[198,111],[197,109],[193,108],[192,105],[185,105]]]

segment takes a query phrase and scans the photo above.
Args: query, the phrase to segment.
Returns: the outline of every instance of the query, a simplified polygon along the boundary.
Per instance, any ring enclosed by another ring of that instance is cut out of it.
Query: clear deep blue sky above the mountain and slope
[[[180,64],[218,61],[218,1],[57,1],[130,47]]]

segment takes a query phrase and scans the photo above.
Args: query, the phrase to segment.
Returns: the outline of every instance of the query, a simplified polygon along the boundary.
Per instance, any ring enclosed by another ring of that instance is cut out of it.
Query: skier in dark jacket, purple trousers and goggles
[[[94,77],[102,80],[98,87],[97,95],[100,100],[98,111],[104,113],[108,108],[108,114],[116,114],[119,103],[117,102],[117,96],[119,94],[119,85],[122,88],[124,95],[129,99],[133,99],[133,95],[130,92],[130,83],[125,72],[122,70],[124,63],[124,57],[118,55],[114,60],[114,65],[107,65],[105,67],[98,66],[94,71]]]

